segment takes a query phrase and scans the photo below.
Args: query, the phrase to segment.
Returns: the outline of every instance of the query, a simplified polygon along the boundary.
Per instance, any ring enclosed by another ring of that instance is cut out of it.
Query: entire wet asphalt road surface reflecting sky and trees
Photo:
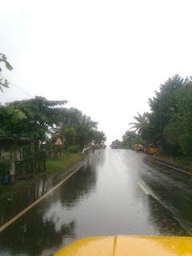
[[[0,202],[2,225],[63,178]],[[1,255],[52,255],[78,238],[192,234],[192,176],[131,150],[98,150],[65,183],[0,233]],[[33,193],[32,193],[33,192]]]

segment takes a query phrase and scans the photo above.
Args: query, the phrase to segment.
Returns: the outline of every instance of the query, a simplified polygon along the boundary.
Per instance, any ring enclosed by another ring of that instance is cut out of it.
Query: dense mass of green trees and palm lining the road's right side
[[[131,129],[122,136],[122,146],[152,143],[166,155],[192,156],[192,76],[178,74],[164,82],[149,98],[150,112],[134,116]]]

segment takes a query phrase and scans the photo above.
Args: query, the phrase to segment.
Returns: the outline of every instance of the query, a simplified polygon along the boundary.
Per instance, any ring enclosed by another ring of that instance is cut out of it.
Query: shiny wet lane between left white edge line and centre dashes
[[[46,199],[3,230],[1,255],[50,255],[98,235],[185,235],[169,211],[137,186],[142,154],[99,150]]]

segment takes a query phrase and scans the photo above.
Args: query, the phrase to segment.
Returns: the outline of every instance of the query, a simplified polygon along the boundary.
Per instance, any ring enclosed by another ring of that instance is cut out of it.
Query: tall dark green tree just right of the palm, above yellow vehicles
[[[177,92],[182,88],[183,82],[183,78],[176,74],[160,86],[160,91],[155,92],[156,97],[149,98],[151,110],[147,114],[149,122],[142,127],[142,138],[153,142],[156,146],[162,146],[167,154],[170,152],[170,144],[163,136],[163,130],[173,114],[179,113]]]

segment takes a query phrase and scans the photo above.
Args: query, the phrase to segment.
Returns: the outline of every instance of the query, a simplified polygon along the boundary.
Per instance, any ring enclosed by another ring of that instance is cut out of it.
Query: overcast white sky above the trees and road
[[[2,75],[32,96],[68,100],[108,143],[149,110],[161,83],[191,75],[191,1],[0,0]],[[30,96],[10,85],[0,102]]]

